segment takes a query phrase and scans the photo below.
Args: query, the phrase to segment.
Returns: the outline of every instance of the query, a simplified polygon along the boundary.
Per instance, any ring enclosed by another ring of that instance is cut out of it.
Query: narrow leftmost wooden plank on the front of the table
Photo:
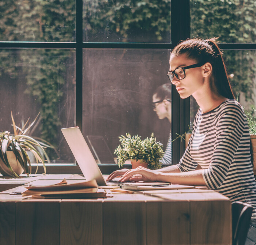
[[[15,245],[15,203],[0,202],[0,244]]]

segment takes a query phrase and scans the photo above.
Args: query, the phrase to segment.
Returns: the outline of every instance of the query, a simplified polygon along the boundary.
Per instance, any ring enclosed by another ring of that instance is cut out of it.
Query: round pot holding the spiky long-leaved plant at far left
[[[16,161],[16,157],[12,151],[7,151],[7,158],[8,158],[8,162],[10,163],[12,169],[15,171],[15,173],[18,176],[24,172],[24,169],[22,168],[20,163],[18,161]],[[3,163],[1,158],[0,158],[0,173],[3,174],[3,176],[13,176],[13,173]]]

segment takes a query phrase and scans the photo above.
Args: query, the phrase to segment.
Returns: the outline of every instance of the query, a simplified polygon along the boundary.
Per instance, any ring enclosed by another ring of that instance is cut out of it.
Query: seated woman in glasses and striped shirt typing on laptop
[[[250,135],[241,105],[234,99],[216,39],[188,39],[170,55],[167,72],[181,98],[192,95],[199,105],[188,147],[177,165],[159,170],[119,170],[121,182],[163,181],[207,186],[253,206],[246,244],[256,244],[256,184]],[[201,170],[195,170],[200,165]]]

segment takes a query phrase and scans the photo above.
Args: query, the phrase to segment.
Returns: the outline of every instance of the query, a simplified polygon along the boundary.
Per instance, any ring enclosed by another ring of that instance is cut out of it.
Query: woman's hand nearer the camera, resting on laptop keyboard
[[[157,172],[153,170],[146,169],[144,167],[137,167],[124,173],[121,178],[121,182],[124,181],[145,181],[145,182],[154,182],[157,181]]]

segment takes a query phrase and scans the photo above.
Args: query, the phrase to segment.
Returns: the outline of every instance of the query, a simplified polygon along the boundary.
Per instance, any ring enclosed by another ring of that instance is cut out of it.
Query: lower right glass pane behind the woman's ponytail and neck
[[[224,50],[227,73],[235,97],[245,110],[256,108],[256,51],[255,50]],[[191,122],[195,118],[198,105],[191,96]]]

